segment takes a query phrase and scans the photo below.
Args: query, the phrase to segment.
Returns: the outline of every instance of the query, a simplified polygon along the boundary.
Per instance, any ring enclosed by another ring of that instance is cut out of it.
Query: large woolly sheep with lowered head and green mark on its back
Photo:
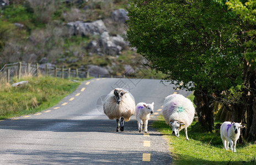
[[[193,122],[195,108],[193,103],[186,97],[173,94],[164,99],[162,114],[166,124],[172,127],[172,135],[179,137],[179,131],[185,128],[186,140],[188,127]]]

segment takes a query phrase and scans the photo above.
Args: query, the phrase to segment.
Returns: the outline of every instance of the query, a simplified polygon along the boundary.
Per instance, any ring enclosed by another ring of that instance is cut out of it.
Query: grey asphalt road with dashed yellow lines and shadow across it
[[[115,87],[129,90],[136,104],[154,102],[150,122],[161,113],[164,97],[191,94],[160,80],[84,81],[54,107],[1,121],[0,164],[170,164],[166,140],[150,126],[149,134],[138,133],[135,115],[124,132],[116,133],[116,121],[102,109],[104,97]]]

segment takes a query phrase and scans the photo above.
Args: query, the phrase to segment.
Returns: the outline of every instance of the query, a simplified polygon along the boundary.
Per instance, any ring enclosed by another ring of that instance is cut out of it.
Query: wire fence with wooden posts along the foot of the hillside
[[[5,64],[0,70],[0,83],[13,83],[13,78],[20,79],[21,76],[54,76],[56,78],[124,78],[124,75],[98,75],[90,74],[89,70],[57,68],[49,65],[12,63]]]

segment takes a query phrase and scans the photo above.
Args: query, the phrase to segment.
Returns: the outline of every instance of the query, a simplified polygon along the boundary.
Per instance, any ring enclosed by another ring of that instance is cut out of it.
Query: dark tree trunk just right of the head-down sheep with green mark
[[[195,90],[194,96],[198,122],[207,131],[212,132],[214,130],[214,99],[210,95],[207,95],[206,91]]]

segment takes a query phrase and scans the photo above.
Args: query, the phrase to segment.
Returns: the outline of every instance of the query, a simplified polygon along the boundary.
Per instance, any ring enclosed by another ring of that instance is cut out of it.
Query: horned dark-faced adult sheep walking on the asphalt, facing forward
[[[105,97],[103,110],[109,119],[116,119],[116,131],[124,131],[124,122],[128,122],[135,112],[134,96],[129,91],[116,88]]]

